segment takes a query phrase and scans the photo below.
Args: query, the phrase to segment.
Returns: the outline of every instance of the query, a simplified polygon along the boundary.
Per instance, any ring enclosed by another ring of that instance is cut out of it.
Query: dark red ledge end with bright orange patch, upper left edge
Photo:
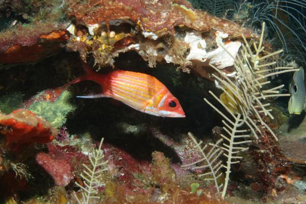
[[[0,33],[0,63],[29,63],[58,52],[69,39],[64,24],[41,23]]]

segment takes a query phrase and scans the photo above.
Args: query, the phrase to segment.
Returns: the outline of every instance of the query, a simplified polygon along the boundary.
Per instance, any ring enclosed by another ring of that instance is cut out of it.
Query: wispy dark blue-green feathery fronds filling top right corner
[[[273,46],[306,64],[306,0],[189,0],[196,9],[258,29],[264,21]]]

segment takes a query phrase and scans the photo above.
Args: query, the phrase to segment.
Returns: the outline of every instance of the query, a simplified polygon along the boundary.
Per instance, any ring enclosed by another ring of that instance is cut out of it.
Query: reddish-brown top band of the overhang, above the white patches
[[[170,34],[178,26],[202,32],[215,28],[234,38],[240,37],[241,33],[246,37],[256,37],[250,30],[236,23],[193,9],[187,1],[96,0],[82,4],[69,0],[67,4],[68,15],[86,24],[93,33],[99,31],[103,22],[109,22],[115,26],[123,23],[138,24],[144,36],[151,39]]]

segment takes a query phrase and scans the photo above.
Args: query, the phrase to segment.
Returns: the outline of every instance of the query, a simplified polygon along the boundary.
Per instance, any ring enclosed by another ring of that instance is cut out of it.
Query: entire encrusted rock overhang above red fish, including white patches
[[[57,9],[49,21],[18,24],[0,33],[0,63],[11,66],[37,62],[65,47],[79,52],[83,61],[92,54],[99,67],[114,66],[114,58],[120,53],[135,50],[149,67],[166,61],[213,80],[209,63],[226,73],[230,72],[226,68],[234,64],[222,46],[235,57],[242,34],[246,39],[258,39],[253,31],[195,10],[187,1],[96,0],[62,4],[67,9]],[[59,23],[65,15],[71,22],[69,26]]]

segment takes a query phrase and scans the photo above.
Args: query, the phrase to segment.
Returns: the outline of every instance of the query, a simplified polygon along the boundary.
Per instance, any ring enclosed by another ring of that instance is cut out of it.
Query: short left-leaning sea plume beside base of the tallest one
[[[208,145],[202,147],[202,141],[197,142],[192,133],[188,133],[188,135],[193,140],[197,150],[202,155],[202,159],[195,161],[191,164],[183,165],[182,167],[190,167],[195,164],[199,164],[200,166],[195,166],[191,169],[208,169],[208,172],[199,174],[198,176],[205,176],[205,180],[213,181],[215,183],[217,192],[219,193],[223,186],[223,184],[218,184],[218,179],[222,175],[222,172],[220,171],[222,167],[222,162],[219,160],[219,157],[223,154],[223,151],[217,146],[222,142],[222,139],[218,140],[216,144],[212,145],[210,148],[207,148]]]

